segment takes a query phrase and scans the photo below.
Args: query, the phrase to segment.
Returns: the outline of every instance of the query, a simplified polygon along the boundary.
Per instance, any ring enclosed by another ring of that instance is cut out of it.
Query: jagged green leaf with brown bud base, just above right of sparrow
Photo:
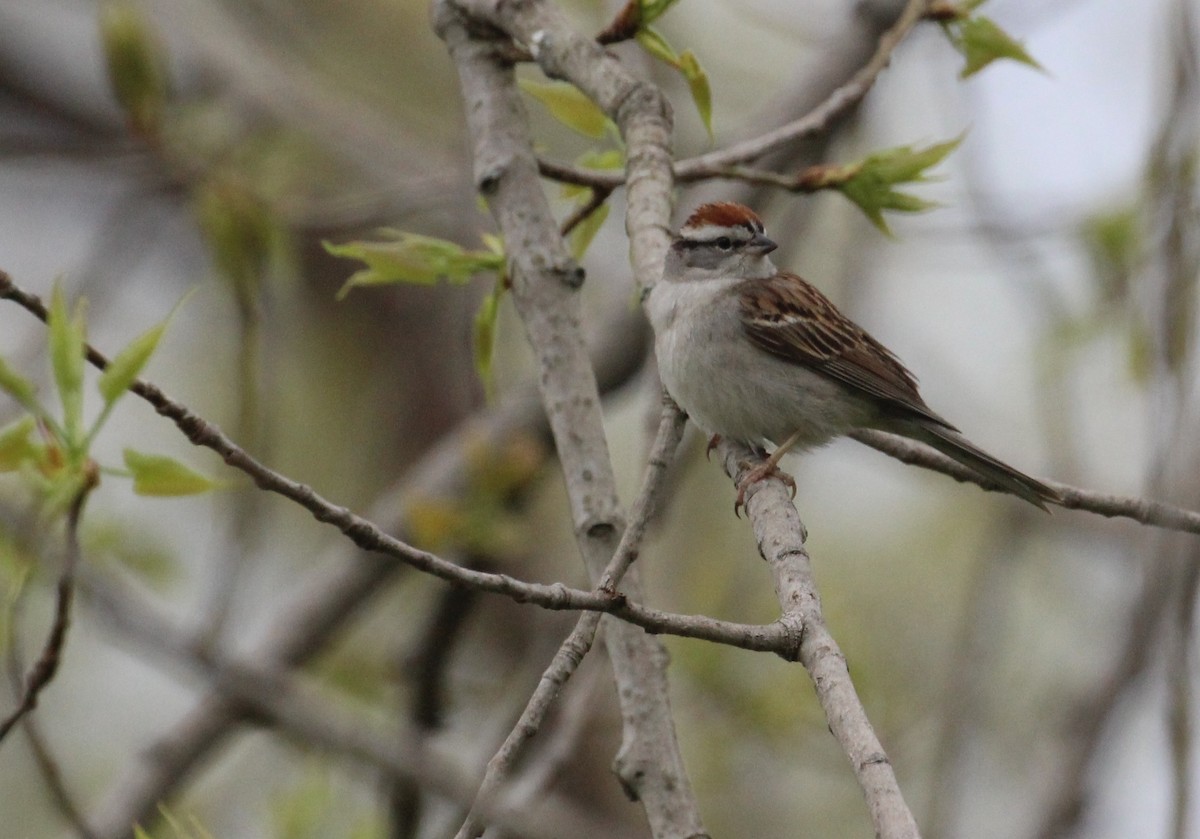
[[[902,145],[876,152],[858,163],[811,167],[802,175],[800,184],[809,191],[838,190],[854,202],[872,224],[890,235],[883,220],[884,210],[920,212],[936,206],[934,202],[893,187],[929,180],[925,170],[941,163],[961,142],[958,137],[924,149]]]

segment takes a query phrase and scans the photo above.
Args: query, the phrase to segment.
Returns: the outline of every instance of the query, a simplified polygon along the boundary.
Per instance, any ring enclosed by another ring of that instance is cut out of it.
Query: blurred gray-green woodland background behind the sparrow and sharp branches
[[[620,4],[566,5],[599,31]],[[658,25],[708,72],[721,145],[821,101],[901,6],[684,0]],[[998,62],[967,80],[940,29],[919,26],[860,109],[767,161],[788,172],[962,134],[942,178],[917,187],[941,206],[889,218],[894,238],[838,196],[730,182],[683,188],[679,216],[712,198],[760,209],[779,262],[894,349],[928,402],[1002,460],[1198,509],[1196,6],[991,0],[982,11],[1044,72]],[[107,352],[192,292],[146,371],[168,394],[421,546],[583,585],[506,300],[490,397],[476,374],[473,323],[494,277],[335,300],[359,265],[323,242],[386,227],[478,248],[492,229],[427,5],[133,8],[169,79],[162,113],[143,122],[114,97],[96,4],[0,1],[0,269],[43,296],[61,278],[86,298],[89,340]],[[614,49],[671,94],[678,154],[710,148],[678,76],[634,44]],[[533,101],[530,114],[552,158],[598,145]],[[559,187],[547,192],[569,215]],[[587,252],[583,294],[628,503],[658,390],[622,199]],[[50,392],[44,330],[13,305],[0,307],[0,354]],[[0,398],[0,424],[17,415]],[[230,486],[148,499],[106,478],[89,502],[60,673],[32,736],[0,748],[4,833],[124,837],[138,821],[156,837],[451,835],[461,802],[257,727],[214,693],[194,651],[304,667],[331,702],[425,729],[478,771],[572,617],[356,555],[133,398],[96,456],[115,466],[131,445]],[[1048,516],[848,441],[785,467],[830,628],[925,835],[1200,835],[1194,537]],[[650,604],[774,619],[732,501],[690,435],[640,561]],[[31,528],[31,509],[20,480],[0,475],[4,643],[26,661],[50,623],[61,555],[61,532]],[[666,643],[714,835],[870,834],[803,669]],[[598,647],[522,778],[530,802],[553,792],[610,835],[648,835],[608,769],[620,737],[611,684]]]

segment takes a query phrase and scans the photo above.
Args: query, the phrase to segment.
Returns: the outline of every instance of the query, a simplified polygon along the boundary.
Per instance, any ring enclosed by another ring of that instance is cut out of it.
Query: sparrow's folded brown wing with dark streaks
[[[838,379],[901,414],[954,427],[925,404],[916,377],[892,350],[794,274],[748,280],[738,287],[738,299],[742,326],[760,349]]]

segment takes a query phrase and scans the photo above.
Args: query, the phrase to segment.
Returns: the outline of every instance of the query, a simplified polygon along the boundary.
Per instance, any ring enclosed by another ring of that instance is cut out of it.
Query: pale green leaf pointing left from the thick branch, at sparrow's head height
[[[485,238],[487,250],[468,251],[461,245],[403,230],[382,230],[389,241],[324,242],[335,257],[366,263],[337,292],[343,299],[359,286],[389,286],[398,282],[432,286],[438,281],[467,282],[476,274],[503,271],[504,247],[499,239]]]

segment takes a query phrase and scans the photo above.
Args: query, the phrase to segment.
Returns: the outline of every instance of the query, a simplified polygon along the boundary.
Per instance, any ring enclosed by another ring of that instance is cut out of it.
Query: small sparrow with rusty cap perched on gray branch
[[[713,435],[775,451],[738,485],[769,475],[790,449],[878,429],[928,443],[1006,491],[1045,509],[1049,486],[970,443],[934,413],[913,378],[882,343],[821,292],[767,256],[776,247],[750,209],[700,206],[667,252],[650,293],[659,371],[667,392]]]

